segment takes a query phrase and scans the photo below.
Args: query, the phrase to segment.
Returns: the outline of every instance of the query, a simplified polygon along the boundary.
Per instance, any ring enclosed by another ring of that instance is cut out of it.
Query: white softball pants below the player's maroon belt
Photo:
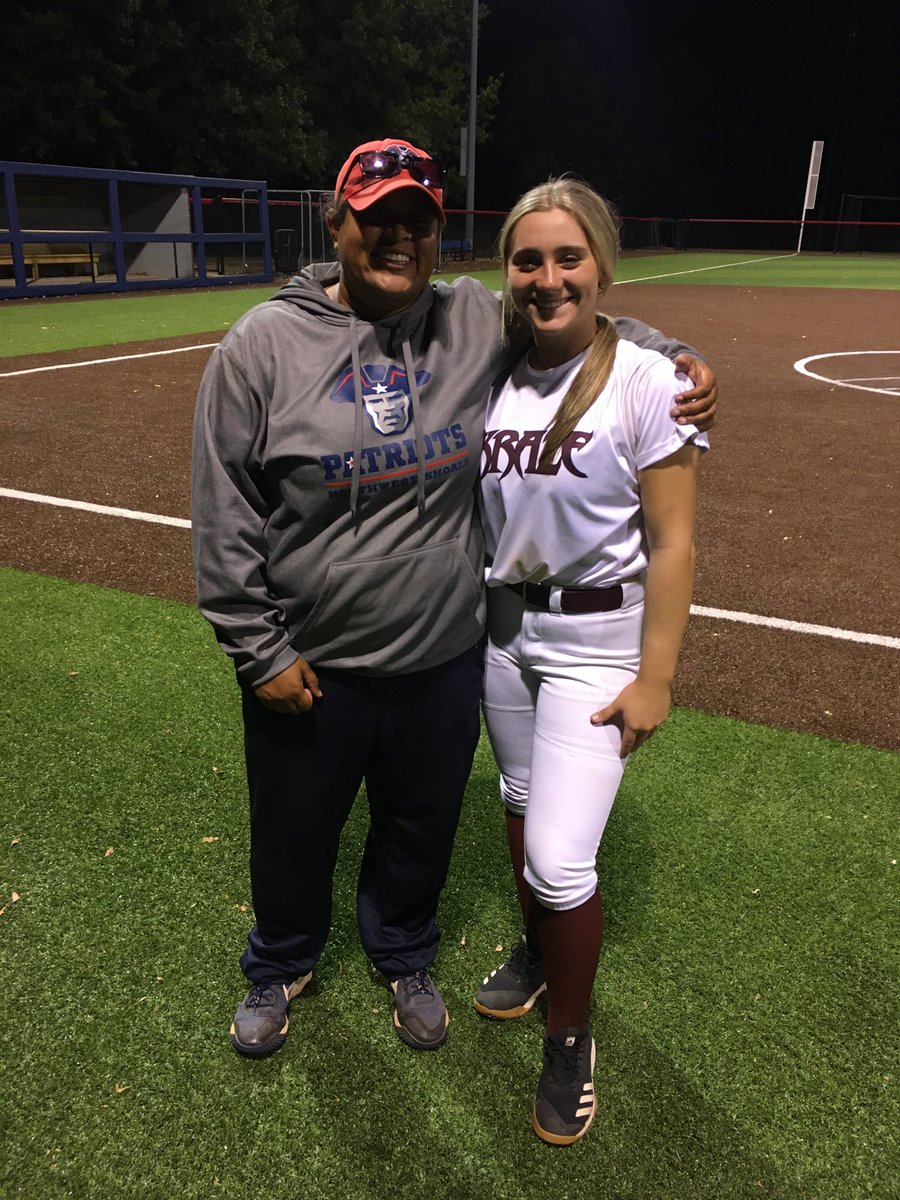
[[[617,612],[528,607],[488,588],[484,714],[500,796],[524,817],[526,880],[547,908],[576,908],[596,890],[596,851],[625,767],[614,725],[594,726],[637,674],[643,582]]]

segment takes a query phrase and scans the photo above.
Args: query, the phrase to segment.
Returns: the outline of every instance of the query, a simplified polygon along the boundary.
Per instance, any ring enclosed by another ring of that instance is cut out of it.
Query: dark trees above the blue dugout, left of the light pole
[[[396,133],[458,167],[469,0],[6,0],[0,19],[0,157],[328,187]]]

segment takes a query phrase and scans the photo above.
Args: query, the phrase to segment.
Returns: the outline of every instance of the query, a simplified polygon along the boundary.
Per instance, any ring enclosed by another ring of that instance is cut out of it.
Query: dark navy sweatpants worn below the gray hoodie
[[[341,830],[364,779],[364,949],[396,979],[438,948],[438,898],[480,731],[482,648],[413,674],[317,674],[323,698],[302,716],[241,689],[257,919],[241,967],[251,983],[294,979],[318,961]]]

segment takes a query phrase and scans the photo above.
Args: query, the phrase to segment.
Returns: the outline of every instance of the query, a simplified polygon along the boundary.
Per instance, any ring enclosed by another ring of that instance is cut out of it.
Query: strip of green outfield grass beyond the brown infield
[[[451,272],[438,276],[452,280]],[[475,278],[498,290],[499,271]],[[697,283],[734,287],[900,288],[900,258],[834,254],[779,256],[684,253],[623,258],[619,283]],[[0,359],[90,346],[121,346],[186,334],[221,334],[272,294],[276,284],[119,295],[90,300],[40,300],[0,304]]]

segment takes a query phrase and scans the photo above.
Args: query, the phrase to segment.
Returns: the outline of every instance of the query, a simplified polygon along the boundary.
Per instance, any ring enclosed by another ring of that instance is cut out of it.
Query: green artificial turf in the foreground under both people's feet
[[[484,743],[440,913],[446,1045],[398,1042],[359,948],[360,803],[290,1038],[248,1062],[240,724],[210,631],[7,569],[0,620],[2,1200],[896,1194],[895,755],[678,710],[635,756],[600,854],[600,1109],[554,1150],[529,1128],[540,1014],[470,1008],[516,936]]]

